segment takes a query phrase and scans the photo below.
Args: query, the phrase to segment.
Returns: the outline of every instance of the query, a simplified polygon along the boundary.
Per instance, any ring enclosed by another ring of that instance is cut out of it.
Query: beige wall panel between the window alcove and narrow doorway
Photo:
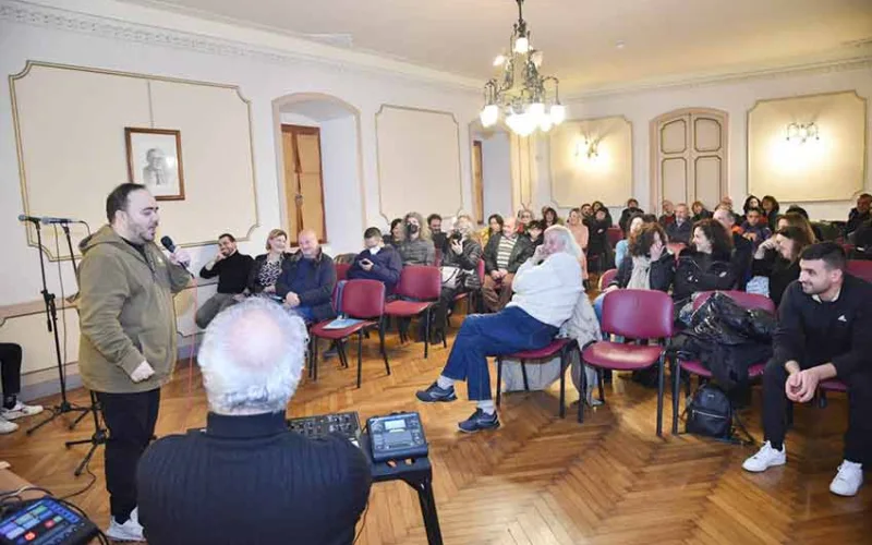
[[[463,207],[460,134],[451,113],[385,105],[376,113],[378,194],[388,219]]]

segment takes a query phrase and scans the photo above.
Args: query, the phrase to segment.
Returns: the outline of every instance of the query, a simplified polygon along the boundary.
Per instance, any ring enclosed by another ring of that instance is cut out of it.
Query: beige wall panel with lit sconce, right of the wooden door
[[[761,100],[748,112],[748,189],[792,202],[845,201],[865,179],[865,100],[855,92]],[[820,140],[786,140],[789,123]]]

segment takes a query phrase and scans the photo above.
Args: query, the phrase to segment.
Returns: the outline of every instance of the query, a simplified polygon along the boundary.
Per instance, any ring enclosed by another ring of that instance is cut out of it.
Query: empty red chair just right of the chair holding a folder
[[[443,276],[439,267],[426,265],[408,265],[400,271],[400,281],[393,294],[400,299],[385,304],[385,315],[398,318],[412,318],[424,315],[427,341],[424,342],[424,358],[427,358],[429,347],[429,328],[433,322],[433,305],[439,301],[443,289]],[[402,298],[412,299],[408,301]],[[444,332],[443,332],[444,336]],[[404,334],[400,331],[400,340],[404,341]]]

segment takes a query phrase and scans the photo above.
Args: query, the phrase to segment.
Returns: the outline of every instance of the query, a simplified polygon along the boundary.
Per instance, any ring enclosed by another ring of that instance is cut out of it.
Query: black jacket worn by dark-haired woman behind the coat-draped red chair
[[[731,290],[736,275],[729,256],[703,254],[685,249],[678,258],[675,271],[673,299],[683,304],[698,291]]]

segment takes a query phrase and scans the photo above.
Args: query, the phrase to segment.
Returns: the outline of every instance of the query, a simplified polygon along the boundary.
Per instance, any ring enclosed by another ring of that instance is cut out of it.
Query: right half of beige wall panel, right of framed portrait
[[[177,244],[227,231],[247,238],[257,225],[249,106],[237,89],[152,81],[156,129],[181,131],[184,201],[162,201],[161,230]],[[215,214],[232,203],[233,214]]]

